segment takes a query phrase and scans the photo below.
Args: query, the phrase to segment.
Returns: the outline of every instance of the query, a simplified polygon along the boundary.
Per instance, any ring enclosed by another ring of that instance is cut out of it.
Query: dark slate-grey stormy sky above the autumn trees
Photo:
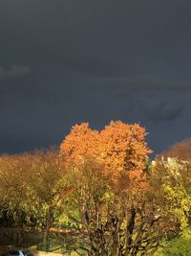
[[[155,153],[191,137],[190,13],[190,0],[0,0],[0,152],[119,119]]]

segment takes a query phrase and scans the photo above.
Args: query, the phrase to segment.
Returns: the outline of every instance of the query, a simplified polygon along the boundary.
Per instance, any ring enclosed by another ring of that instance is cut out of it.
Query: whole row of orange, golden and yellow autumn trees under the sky
[[[0,224],[46,230],[48,239],[65,218],[76,251],[153,255],[189,230],[191,164],[173,149],[150,165],[146,135],[120,121],[101,131],[81,124],[59,148],[1,155]]]

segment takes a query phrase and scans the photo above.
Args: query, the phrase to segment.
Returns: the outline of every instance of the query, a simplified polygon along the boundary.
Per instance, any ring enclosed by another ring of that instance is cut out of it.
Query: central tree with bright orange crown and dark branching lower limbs
[[[147,255],[163,236],[161,200],[143,172],[151,152],[145,137],[138,124],[116,121],[99,132],[76,125],[61,144],[74,184],[68,216],[89,256]]]

